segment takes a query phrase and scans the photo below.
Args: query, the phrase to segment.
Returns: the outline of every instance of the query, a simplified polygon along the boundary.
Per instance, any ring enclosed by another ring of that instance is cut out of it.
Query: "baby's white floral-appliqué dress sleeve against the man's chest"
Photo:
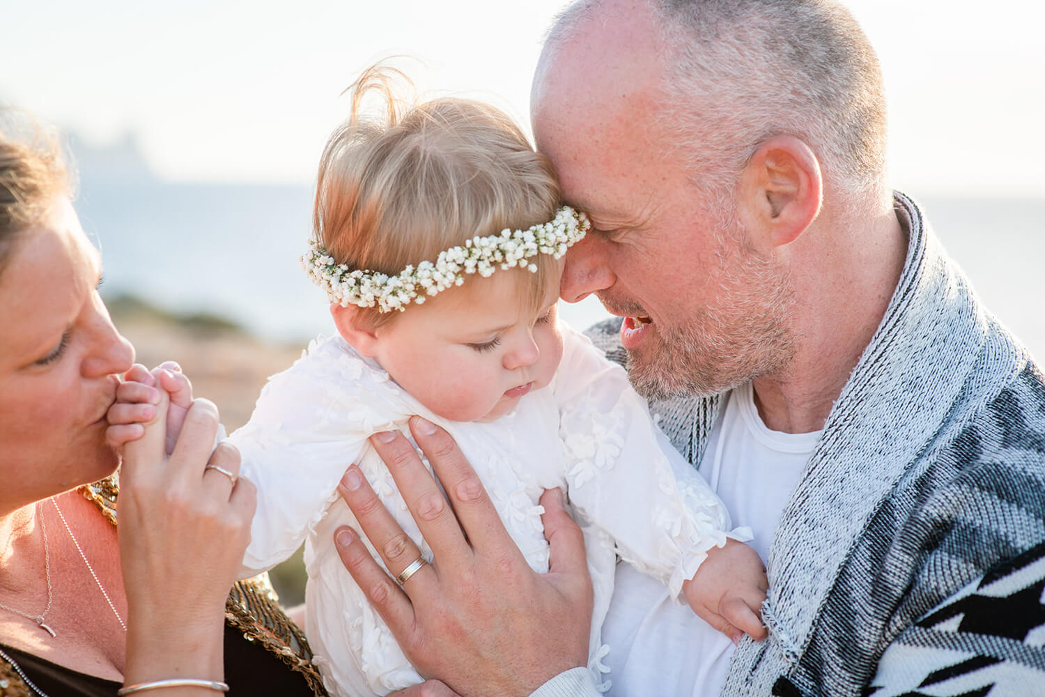
[[[570,501],[622,559],[677,599],[709,550],[751,538],[747,528],[730,531],[725,506],[653,423],[625,371],[566,327],[554,390]]]

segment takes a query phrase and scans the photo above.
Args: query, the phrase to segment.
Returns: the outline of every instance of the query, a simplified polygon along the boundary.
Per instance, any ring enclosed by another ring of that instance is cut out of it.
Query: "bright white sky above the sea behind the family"
[[[541,37],[563,5],[7,3],[0,101],[96,146],[133,134],[166,179],[301,185],[347,112],[342,90],[389,55],[414,56],[404,65],[424,90],[487,99],[529,127]],[[844,4],[882,64],[895,186],[916,195],[1045,198],[1045,4]]]

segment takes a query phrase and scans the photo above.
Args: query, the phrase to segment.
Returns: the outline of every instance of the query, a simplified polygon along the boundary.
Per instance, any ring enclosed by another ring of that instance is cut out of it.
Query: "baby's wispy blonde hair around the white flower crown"
[[[391,276],[475,235],[555,216],[552,165],[504,112],[461,98],[403,101],[397,82],[413,88],[400,71],[377,65],[346,90],[349,118],[320,160],[314,233],[338,263]],[[363,114],[371,96],[385,107],[379,117]],[[536,311],[558,265],[544,254],[533,262]],[[399,315],[362,311],[372,326]]]

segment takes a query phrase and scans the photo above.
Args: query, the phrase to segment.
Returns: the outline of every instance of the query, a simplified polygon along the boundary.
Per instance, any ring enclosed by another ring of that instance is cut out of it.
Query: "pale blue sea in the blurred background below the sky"
[[[1045,358],[1045,199],[910,193],[986,307]],[[76,208],[102,252],[104,297],[217,315],[263,340],[304,345],[333,331],[327,303],[299,262],[311,199],[307,186],[82,171]],[[606,312],[593,297],[563,303],[561,317],[585,327]]]

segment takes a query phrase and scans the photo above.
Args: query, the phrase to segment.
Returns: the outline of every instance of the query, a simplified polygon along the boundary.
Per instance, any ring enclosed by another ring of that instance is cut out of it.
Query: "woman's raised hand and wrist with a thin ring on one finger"
[[[220,679],[225,600],[247,544],[254,486],[239,454],[213,448],[217,409],[192,401],[166,454],[170,396],[162,382],[141,438],[123,447],[118,504],[127,598],[124,679]],[[213,452],[211,451],[213,448]]]

